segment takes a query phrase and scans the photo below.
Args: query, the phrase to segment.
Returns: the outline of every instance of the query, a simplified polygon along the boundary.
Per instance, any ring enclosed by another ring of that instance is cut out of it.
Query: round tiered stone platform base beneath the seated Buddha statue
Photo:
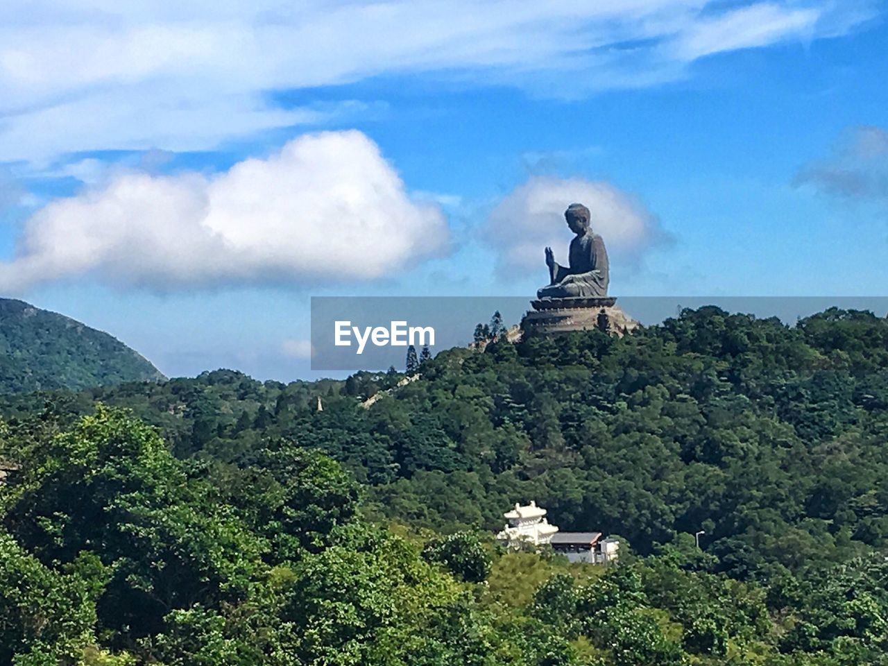
[[[615,297],[541,298],[530,302],[534,309],[521,320],[521,332],[527,335],[599,329],[623,336],[637,329],[638,321],[615,304]]]

